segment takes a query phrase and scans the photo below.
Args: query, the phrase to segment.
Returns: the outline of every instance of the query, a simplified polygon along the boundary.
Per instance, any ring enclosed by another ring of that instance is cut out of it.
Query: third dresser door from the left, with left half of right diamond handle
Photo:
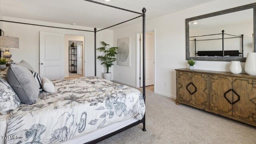
[[[232,77],[210,75],[210,110],[232,116]]]

